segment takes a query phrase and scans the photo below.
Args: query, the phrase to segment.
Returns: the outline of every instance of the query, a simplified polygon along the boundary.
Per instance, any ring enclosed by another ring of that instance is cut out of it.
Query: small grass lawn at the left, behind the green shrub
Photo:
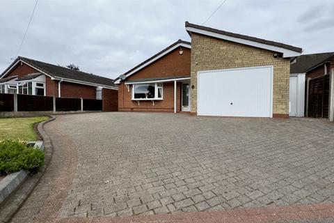
[[[47,120],[49,117],[0,118],[0,141],[3,139],[22,139],[33,141],[37,134],[33,130],[35,123]]]

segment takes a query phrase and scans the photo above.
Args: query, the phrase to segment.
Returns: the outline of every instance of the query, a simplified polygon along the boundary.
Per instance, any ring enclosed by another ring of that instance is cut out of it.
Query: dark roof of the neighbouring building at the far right
[[[296,74],[307,72],[308,70],[312,70],[312,68],[321,65],[321,63],[329,61],[332,57],[334,58],[334,52],[298,56],[296,62],[292,63],[290,66],[290,73]]]

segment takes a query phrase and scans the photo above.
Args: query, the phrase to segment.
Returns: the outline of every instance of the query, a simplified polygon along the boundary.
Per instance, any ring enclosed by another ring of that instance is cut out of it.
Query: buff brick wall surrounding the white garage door
[[[197,64],[196,64],[197,63]],[[289,59],[273,52],[197,33],[191,34],[191,112],[197,112],[197,72],[273,65],[273,116],[289,117]]]

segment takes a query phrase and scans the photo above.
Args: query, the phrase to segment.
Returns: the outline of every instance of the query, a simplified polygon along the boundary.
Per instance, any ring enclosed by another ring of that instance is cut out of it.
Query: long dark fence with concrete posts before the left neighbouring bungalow
[[[102,100],[0,93],[0,112],[84,112],[102,110]]]

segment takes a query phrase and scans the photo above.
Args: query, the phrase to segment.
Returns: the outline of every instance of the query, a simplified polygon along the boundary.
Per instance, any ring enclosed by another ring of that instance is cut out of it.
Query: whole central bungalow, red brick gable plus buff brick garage
[[[289,117],[290,59],[302,49],[186,22],[178,40],[116,79],[119,111]]]

